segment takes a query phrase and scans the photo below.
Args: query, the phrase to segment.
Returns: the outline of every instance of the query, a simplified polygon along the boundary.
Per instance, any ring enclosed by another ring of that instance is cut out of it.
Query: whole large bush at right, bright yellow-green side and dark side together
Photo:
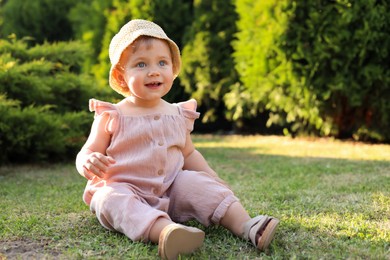
[[[387,3],[237,0],[236,8],[242,85],[225,96],[234,118],[266,110],[269,125],[292,133],[389,140]]]

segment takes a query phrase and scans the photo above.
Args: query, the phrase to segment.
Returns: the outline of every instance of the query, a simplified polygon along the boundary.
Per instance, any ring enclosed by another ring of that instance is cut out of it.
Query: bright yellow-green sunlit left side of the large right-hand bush
[[[238,32],[232,45],[240,83],[225,95],[233,120],[264,110],[270,111],[272,118],[277,107],[270,102],[291,102],[286,100],[289,97],[284,93],[283,83],[295,79],[289,73],[288,64],[280,61],[283,52],[278,46],[287,23],[286,2],[236,1]]]

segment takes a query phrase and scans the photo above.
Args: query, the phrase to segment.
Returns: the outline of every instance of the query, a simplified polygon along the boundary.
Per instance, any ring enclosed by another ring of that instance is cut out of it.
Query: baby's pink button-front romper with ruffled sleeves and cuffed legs
[[[88,181],[84,201],[105,228],[133,241],[148,241],[150,228],[160,217],[219,224],[238,201],[218,178],[182,169],[181,150],[199,113],[195,100],[176,106],[175,115],[130,116],[114,104],[90,100],[95,117],[109,115],[106,131],[111,144],[106,154],[116,163],[103,179]]]

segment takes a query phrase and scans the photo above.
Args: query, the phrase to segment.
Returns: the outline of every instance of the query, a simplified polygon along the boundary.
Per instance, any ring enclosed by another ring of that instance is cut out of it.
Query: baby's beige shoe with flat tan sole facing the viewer
[[[201,247],[204,236],[200,229],[170,224],[161,231],[158,254],[162,259],[177,259],[179,254],[191,253]]]

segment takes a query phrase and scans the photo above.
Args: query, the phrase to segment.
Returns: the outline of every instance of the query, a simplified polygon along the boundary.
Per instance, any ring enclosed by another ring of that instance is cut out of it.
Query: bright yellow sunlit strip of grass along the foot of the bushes
[[[195,139],[197,140],[197,139]],[[349,160],[390,161],[390,145],[364,144],[333,139],[280,136],[202,136],[199,148],[245,148],[254,154],[284,155],[294,157],[321,157]]]

